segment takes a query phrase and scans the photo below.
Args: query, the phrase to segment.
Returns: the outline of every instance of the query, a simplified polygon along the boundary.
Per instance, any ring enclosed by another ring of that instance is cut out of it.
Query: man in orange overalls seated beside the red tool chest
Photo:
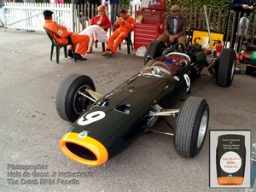
[[[119,19],[113,24],[115,31],[108,38],[106,52],[102,53],[102,56],[110,57],[115,54],[119,44],[121,44],[125,38],[128,38],[129,32],[133,31],[134,18],[127,14],[125,9],[121,9],[119,15]]]

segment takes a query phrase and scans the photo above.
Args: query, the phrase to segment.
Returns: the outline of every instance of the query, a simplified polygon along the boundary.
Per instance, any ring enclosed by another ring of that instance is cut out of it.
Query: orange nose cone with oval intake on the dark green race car
[[[108,160],[108,151],[102,143],[92,137],[79,137],[75,132],[65,134],[60,147],[69,158],[86,166],[100,166]]]

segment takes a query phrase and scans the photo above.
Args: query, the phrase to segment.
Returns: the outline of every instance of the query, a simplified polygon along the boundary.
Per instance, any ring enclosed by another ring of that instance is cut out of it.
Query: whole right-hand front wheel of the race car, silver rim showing
[[[200,97],[189,96],[177,115],[173,136],[177,154],[189,158],[199,154],[207,136],[208,121],[207,101]]]

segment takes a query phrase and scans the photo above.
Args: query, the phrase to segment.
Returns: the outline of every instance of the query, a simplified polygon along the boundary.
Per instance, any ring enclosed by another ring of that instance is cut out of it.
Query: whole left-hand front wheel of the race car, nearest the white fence
[[[88,95],[86,88],[96,90],[90,77],[72,74],[61,83],[56,96],[56,110],[61,119],[74,122],[93,103],[80,93]]]

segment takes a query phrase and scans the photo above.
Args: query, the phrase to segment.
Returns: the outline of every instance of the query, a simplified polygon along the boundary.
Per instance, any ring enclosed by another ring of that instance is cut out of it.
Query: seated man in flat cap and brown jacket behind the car
[[[171,11],[172,15],[166,16],[165,33],[158,40],[166,44],[173,44],[175,42],[185,44],[187,18],[180,15],[181,8],[177,5],[174,5]]]

